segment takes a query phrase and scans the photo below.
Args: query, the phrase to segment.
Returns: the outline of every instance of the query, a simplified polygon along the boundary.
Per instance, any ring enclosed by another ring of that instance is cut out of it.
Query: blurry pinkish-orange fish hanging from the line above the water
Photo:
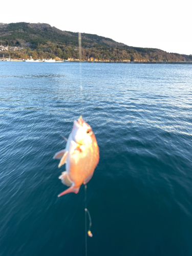
[[[66,164],[66,171],[59,179],[69,186],[58,197],[68,193],[77,194],[80,186],[91,180],[99,162],[99,147],[91,126],[81,116],[73,122],[65,150],[57,152],[53,158],[60,159],[59,168]]]

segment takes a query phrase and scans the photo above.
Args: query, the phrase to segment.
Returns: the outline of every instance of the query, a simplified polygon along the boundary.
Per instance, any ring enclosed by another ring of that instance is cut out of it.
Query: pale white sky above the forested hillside
[[[27,4],[30,3],[30,4]],[[192,54],[189,0],[8,1],[0,23],[48,23],[97,34],[128,46]]]

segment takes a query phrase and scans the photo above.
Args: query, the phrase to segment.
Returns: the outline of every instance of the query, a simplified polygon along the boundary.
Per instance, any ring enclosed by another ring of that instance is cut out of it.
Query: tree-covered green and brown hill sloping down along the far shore
[[[192,61],[192,55],[159,49],[126,46],[110,38],[81,33],[82,60],[102,61]],[[78,33],[62,31],[49,24],[0,23],[0,45],[9,46],[4,55],[12,58],[60,58],[77,60]],[[22,47],[13,51],[13,46]],[[3,52],[0,52],[0,57]]]

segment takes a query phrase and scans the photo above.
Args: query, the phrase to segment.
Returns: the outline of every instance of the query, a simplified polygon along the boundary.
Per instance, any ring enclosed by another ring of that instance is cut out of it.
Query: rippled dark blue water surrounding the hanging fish
[[[57,198],[52,159],[81,114],[88,256],[192,255],[191,98],[190,65],[0,62],[0,255],[85,255],[84,188]]]

